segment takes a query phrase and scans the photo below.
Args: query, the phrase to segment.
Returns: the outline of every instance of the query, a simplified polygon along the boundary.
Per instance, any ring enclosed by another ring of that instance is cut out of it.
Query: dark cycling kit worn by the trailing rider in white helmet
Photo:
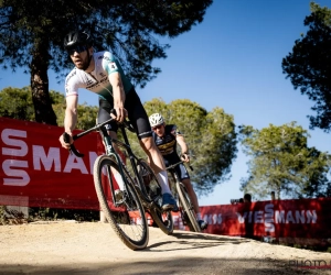
[[[179,157],[177,153],[177,140],[175,138],[178,135],[182,135],[182,133],[177,129],[175,124],[169,124],[164,127],[164,135],[162,138],[158,136],[156,133],[153,133],[154,142],[161,152],[166,166],[170,166],[172,164],[177,164],[181,162],[181,158]],[[180,178],[180,180],[183,180],[185,178],[190,178],[189,172],[185,168],[185,165],[180,164],[174,167],[174,170]]]

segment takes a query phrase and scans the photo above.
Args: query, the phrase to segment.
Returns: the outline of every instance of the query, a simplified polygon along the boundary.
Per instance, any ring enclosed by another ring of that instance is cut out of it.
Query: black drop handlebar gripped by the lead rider
[[[113,110],[110,111],[110,113],[113,113],[113,114],[116,116],[116,110],[113,109]],[[90,132],[99,131],[104,125],[108,124],[108,123],[111,122],[113,120],[115,120],[115,119],[110,118],[109,120],[106,120],[106,121],[103,122],[103,123],[96,124],[95,127],[93,127],[93,128],[90,128],[90,129],[88,129],[88,130],[86,130],[86,131],[84,131],[84,132],[82,132],[82,133],[78,133],[78,134],[73,135],[73,136],[72,136],[72,138],[73,138],[73,141],[78,140],[79,138],[82,138],[82,136],[84,136],[84,135],[86,135],[86,134],[88,134],[88,133],[90,133]],[[125,120],[125,121],[121,122],[121,123],[118,122],[118,124],[119,124],[119,127],[124,127],[124,128],[128,129],[128,130],[129,130],[130,132],[132,132],[132,133],[136,132],[136,130],[135,130],[135,128],[132,127],[131,122],[128,121],[128,120]],[[66,132],[64,132],[62,135],[63,135],[63,141],[64,141],[65,143],[70,143],[70,140],[71,140],[70,135],[68,135]],[[74,143],[72,143],[72,144],[70,145],[70,153],[71,153],[71,154],[73,153],[73,154],[76,155],[77,157],[83,157],[83,156],[84,156],[84,154],[79,153],[79,152],[76,150]]]

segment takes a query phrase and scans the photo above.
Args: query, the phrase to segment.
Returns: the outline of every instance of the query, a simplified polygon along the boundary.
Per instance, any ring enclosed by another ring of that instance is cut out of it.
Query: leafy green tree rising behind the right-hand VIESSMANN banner
[[[330,155],[308,147],[309,134],[296,122],[260,131],[241,127],[244,152],[248,162],[248,178],[242,179],[242,190],[266,198],[271,191],[276,197],[308,198],[325,196],[330,188],[327,175]]]

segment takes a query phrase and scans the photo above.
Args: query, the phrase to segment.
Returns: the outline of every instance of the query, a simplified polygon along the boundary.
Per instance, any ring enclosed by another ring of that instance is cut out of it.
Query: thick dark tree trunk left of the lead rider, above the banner
[[[57,125],[56,114],[52,108],[49,92],[49,42],[40,40],[35,43],[31,72],[31,90],[34,106],[35,121],[51,125]]]

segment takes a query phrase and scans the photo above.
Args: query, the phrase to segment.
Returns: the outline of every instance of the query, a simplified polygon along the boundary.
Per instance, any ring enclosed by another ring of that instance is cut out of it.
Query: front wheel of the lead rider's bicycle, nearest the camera
[[[100,208],[119,239],[131,250],[145,249],[149,232],[145,209],[134,188],[134,180],[124,169],[127,189],[118,189],[113,173],[119,173],[118,164],[109,156],[98,156],[94,164],[94,184]]]

